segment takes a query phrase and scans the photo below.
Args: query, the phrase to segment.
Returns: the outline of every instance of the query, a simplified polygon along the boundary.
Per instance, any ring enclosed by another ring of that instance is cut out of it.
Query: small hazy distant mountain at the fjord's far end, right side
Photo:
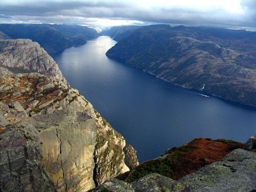
[[[114,26],[108,30],[102,31],[102,35],[108,35],[114,40],[120,39],[130,35],[134,30],[141,28],[141,26]]]

